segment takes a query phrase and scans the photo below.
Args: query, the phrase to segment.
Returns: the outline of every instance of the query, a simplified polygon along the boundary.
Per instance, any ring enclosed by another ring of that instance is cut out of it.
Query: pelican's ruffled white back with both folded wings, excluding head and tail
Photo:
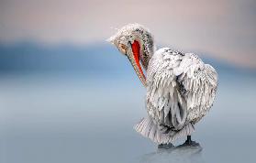
[[[148,112],[163,132],[197,122],[213,104],[217,72],[195,54],[159,49],[147,75]]]

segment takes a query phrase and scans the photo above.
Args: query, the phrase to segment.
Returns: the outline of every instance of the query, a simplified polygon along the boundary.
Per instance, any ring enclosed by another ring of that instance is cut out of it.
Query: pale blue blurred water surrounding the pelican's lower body
[[[157,150],[133,130],[146,115],[145,90],[139,80],[124,76],[2,77],[0,161],[253,162],[254,76],[221,75],[217,101],[193,135],[203,149],[169,151]]]

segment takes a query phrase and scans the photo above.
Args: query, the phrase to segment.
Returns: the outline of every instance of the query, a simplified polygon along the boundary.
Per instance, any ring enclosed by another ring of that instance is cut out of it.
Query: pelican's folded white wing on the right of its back
[[[178,69],[184,70],[177,81],[186,99],[187,120],[196,123],[213,105],[217,92],[217,71],[193,53],[185,55]]]

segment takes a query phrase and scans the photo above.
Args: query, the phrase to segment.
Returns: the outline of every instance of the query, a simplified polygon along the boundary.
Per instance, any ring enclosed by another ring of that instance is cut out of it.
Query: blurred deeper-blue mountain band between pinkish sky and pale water
[[[256,74],[255,70],[212,59],[209,55],[200,55],[202,52],[196,54],[213,65],[219,74]],[[30,42],[0,44],[1,74],[58,72],[124,75],[133,71],[129,64],[117,49],[107,43],[84,47],[67,44],[46,46]]]

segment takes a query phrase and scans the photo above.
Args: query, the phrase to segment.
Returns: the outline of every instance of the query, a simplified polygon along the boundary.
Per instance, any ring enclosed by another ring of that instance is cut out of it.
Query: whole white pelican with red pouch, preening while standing
[[[162,148],[173,146],[182,136],[187,137],[183,145],[198,145],[191,135],[213,105],[217,71],[194,53],[155,50],[150,31],[139,24],[120,28],[108,41],[128,57],[147,89],[148,115],[135,130]]]

